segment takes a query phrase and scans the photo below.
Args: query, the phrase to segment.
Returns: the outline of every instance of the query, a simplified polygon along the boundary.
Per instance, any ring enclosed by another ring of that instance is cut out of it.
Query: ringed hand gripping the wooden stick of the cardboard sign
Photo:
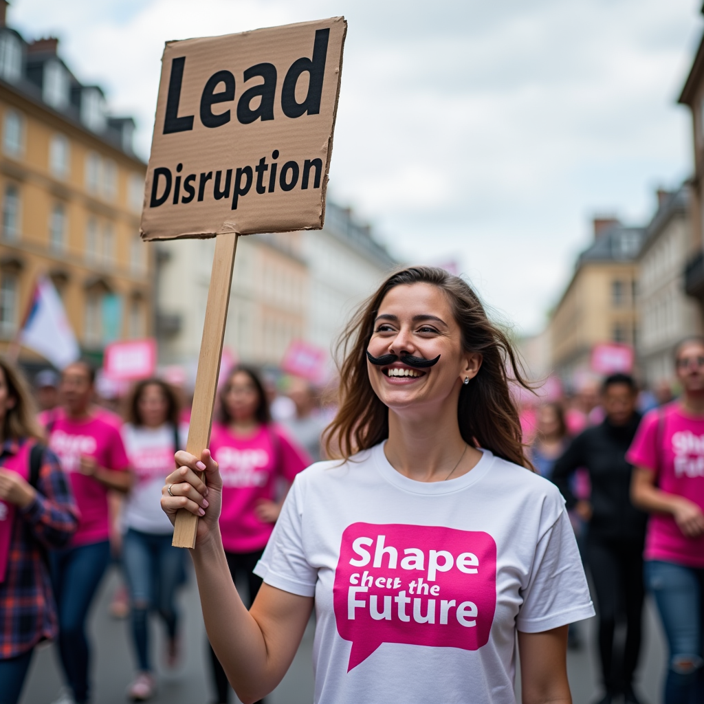
[[[179,451],[175,459],[177,468],[166,477],[166,484],[161,490],[161,508],[172,523],[181,508],[201,518],[196,533],[197,545],[218,532],[222,505],[222,479],[218,463],[210,457],[209,450],[203,450],[200,459]],[[199,478],[201,472],[205,472],[203,479]]]

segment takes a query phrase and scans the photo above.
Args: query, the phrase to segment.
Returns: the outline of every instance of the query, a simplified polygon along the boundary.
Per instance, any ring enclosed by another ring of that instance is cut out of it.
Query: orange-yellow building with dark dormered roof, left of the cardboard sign
[[[8,43],[19,67],[8,63]],[[0,351],[42,275],[87,353],[152,329],[151,248],[139,239],[146,165],[132,152],[134,122],[107,117],[99,87],[77,82],[57,44],[0,30]]]

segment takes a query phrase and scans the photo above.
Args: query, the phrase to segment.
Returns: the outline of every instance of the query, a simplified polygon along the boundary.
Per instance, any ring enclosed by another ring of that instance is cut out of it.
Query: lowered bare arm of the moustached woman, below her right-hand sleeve
[[[572,704],[567,681],[567,626],[518,631],[522,704]]]

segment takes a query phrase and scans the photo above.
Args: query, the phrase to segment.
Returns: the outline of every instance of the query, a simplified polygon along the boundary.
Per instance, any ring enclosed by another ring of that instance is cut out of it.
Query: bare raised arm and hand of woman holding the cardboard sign
[[[180,508],[200,517],[191,557],[208,639],[237,696],[251,704],[275,689],[289,669],[313,610],[313,598],[265,583],[251,610],[246,609],[222,548],[218,465],[208,450],[201,460],[186,452],[178,452],[176,460],[180,466],[166,479],[161,507],[172,522]],[[205,471],[205,482],[196,471]]]

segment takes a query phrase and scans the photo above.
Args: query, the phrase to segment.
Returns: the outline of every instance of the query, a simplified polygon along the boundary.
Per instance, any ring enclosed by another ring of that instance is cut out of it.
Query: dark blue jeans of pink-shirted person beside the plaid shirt
[[[58,607],[61,664],[78,704],[88,700],[88,610],[110,561],[110,543],[102,541],[51,551],[49,566]]]

